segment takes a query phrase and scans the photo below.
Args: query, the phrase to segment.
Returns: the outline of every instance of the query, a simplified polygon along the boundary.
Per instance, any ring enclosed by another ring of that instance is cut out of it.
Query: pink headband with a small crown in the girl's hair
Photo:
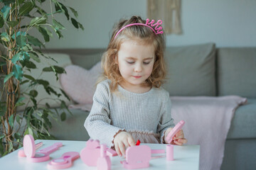
[[[157,23],[153,24],[154,23],[154,20],[152,20],[150,23],[149,23],[149,18],[146,19],[146,24],[145,23],[131,23],[127,26],[124,26],[123,28],[121,28],[118,32],[117,32],[117,35],[122,31],[124,30],[124,28],[127,28],[129,26],[146,26],[148,28],[150,28],[151,30],[154,31],[155,34],[162,34],[164,33],[161,29],[162,27],[160,26],[159,28],[157,28],[159,25],[161,25],[161,23],[163,23],[161,20],[157,21]],[[149,24],[151,24],[149,26]],[[154,26],[156,26],[155,28],[153,28]],[[160,31],[161,30],[161,31]],[[114,39],[117,37],[117,35],[114,36]]]

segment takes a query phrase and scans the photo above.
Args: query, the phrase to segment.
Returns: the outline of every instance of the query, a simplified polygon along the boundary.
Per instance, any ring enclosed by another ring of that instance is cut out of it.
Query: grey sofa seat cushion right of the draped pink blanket
[[[256,98],[247,98],[247,103],[235,111],[227,139],[256,138]]]

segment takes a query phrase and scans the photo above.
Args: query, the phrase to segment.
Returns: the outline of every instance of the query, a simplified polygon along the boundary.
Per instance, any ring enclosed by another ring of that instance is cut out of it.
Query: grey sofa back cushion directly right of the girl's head
[[[166,47],[171,96],[215,96],[215,44]]]

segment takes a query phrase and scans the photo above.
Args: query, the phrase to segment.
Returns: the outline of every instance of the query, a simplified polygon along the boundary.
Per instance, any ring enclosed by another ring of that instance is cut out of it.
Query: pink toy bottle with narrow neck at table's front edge
[[[111,161],[110,157],[107,156],[106,145],[100,145],[100,157],[97,159],[97,170],[110,170]]]

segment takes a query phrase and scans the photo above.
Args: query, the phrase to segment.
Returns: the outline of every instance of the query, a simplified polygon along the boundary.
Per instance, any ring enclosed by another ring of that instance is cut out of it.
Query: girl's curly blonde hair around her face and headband
[[[159,88],[164,84],[166,79],[166,65],[164,62],[164,50],[166,46],[165,34],[156,35],[150,28],[146,26],[129,26],[124,28],[116,38],[117,32],[131,23],[146,23],[139,16],[132,16],[129,20],[121,20],[113,28],[110,43],[107,46],[107,51],[102,55],[103,74],[98,79],[97,84],[105,79],[110,79],[110,90],[117,91],[117,85],[123,81],[122,75],[119,72],[118,64],[116,63],[119,48],[125,40],[135,40],[142,45],[154,45],[155,60],[151,75],[146,79],[146,84]],[[164,31],[164,30],[163,30]]]

